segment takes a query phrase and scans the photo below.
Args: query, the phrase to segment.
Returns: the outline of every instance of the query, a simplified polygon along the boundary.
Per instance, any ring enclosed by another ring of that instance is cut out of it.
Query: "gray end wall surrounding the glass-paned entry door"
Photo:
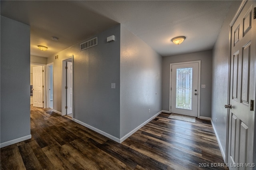
[[[162,109],[169,111],[170,95],[170,63],[201,60],[201,84],[206,88],[201,88],[200,116],[211,117],[212,102],[212,51],[200,51],[182,55],[163,57],[162,64]]]

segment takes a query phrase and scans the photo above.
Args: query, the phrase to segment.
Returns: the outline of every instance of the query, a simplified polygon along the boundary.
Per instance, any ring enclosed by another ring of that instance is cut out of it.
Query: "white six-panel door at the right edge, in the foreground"
[[[244,3],[245,2],[245,3]],[[250,170],[253,160],[255,103],[256,20],[255,1],[244,1],[244,8],[231,23],[231,70],[228,132],[228,165],[230,170]],[[227,106],[226,106],[227,107]],[[254,146],[255,147],[255,146]],[[254,163],[254,164],[253,164]],[[237,165],[242,165],[238,168]]]

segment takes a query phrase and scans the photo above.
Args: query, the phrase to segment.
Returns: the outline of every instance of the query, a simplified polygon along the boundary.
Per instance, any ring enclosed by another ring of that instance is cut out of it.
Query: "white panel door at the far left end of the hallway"
[[[33,67],[33,106],[43,108],[43,97],[43,66],[36,66]]]

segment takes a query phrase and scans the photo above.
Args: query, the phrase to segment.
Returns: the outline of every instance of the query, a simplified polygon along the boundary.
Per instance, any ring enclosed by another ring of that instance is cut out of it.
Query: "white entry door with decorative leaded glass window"
[[[197,117],[199,63],[171,64],[171,113]]]

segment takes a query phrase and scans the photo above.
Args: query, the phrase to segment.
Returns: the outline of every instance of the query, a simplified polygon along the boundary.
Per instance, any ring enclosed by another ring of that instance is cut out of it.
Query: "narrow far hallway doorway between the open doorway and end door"
[[[53,63],[46,65],[46,90],[47,101],[46,107],[53,109]]]

